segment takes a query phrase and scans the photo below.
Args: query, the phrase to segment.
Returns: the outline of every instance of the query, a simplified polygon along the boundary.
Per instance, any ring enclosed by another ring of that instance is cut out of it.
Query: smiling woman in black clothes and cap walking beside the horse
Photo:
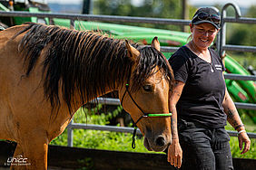
[[[200,8],[190,28],[192,41],[169,60],[176,81],[168,162],[186,170],[233,169],[226,121],[238,131],[241,154],[251,141],[226,89],[222,61],[209,48],[220,30],[220,15],[213,8]]]

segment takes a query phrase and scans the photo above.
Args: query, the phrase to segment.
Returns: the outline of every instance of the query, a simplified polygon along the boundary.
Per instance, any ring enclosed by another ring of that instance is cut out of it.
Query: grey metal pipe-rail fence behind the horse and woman
[[[226,17],[226,8],[232,6],[235,9],[235,17]],[[163,18],[150,18],[150,17],[130,17],[130,16],[113,16],[113,15],[95,15],[95,14],[41,14],[41,13],[28,13],[28,12],[2,12],[1,16],[23,16],[23,17],[38,17],[48,18],[50,24],[54,24],[53,18],[70,19],[71,27],[74,28],[75,20],[84,21],[102,21],[102,22],[125,22],[125,23],[144,23],[144,24],[177,24],[177,25],[188,25],[191,23],[190,20],[179,20],[179,19],[163,19]],[[225,51],[235,52],[256,52],[255,46],[241,46],[226,44],[226,23],[239,23],[239,24],[256,24],[256,18],[245,18],[241,17],[240,8],[238,5],[226,4],[222,8],[222,29],[217,35],[217,50],[222,56]],[[162,52],[175,52],[177,47],[161,47]],[[238,74],[225,74],[225,79],[230,80],[256,80],[256,76],[243,76]],[[93,101],[94,102],[94,101]],[[107,105],[120,105],[119,99],[102,99],[99,98],[98,103]],[[235,102],[238,109],[253,109],[256,110],[256,104]],[[73,146],[73,129],[84,128],[84,129],[97,129],[97,130],[108,130],[115,132],[126,132],[132,133],[133,128],[131,127],[111,127],[111,126],[98,126],[98,125],[85,125],[77,124],[73,121],[67,127],[68,131],[68,146]],[[228,131],[230,136],[236,136],[237,132]],[[140,134],[140,131],[139,131]],[[256,138],[255,133],[248,133],[249,137]]]

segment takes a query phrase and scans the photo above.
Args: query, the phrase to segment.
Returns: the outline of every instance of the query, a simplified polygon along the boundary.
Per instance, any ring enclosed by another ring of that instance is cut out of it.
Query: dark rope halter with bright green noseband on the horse
[[[133,129],[133,142],[132,142],[132,147],[133,149],[135,148],[135,140],[136,140],[136,132],[137,132],[137,123],[142,119],[142,118],[149,118],[149,117],[171,117],[172,113],[159,113],[159,114],[154,114],[154,113],[145,113],[143,111],[143,109],[136,103],[136,101],[133,99],[133,96],[131,95],[130,91],[129,91],[129,81],[130,81],[130,76],[127,80],[127,83],[125,84],[125,91],[123,93],[123,97],[121,100],[121,106],[123,106],[123,99],[124,96],[126,94],[126,92],[128,93],[128,95],[130,96],[130,98],[133,100],[133,103],[136,105],[136,107],[138,109],[140,109],[143,113],[143,116],[141,116],[140,118],[137,119],[137,121],[134,122],[134,129]]]

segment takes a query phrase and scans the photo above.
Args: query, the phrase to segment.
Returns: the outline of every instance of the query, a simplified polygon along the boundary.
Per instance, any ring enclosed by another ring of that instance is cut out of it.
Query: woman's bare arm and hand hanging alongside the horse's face
[[[177,129],[177,110],[176,104],[182,95],[182,90],[185,83],[176,80],[172,96],[169,100],[169,109],[172,112],[171,128],[172,128],[172,144],[168,148],[168,162],[178,168],[182,165],[182,147],[179,143],[178,129]]]

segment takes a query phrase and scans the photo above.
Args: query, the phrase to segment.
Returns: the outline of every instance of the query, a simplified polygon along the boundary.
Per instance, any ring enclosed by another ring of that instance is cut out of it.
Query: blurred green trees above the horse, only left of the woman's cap
[[[189,11],[195,11],[195,8],[192,6],[188,6],[188,9]],[[134,6],[132,5],[131,0],[95,0],[94,14],[181,19],[182,18],[182,1],[144,0],[144,3],[142,5]],[[163,24],[131,24],[131,25],[181,31],[181,26],[178,26],[178,25],[163,25]]]

